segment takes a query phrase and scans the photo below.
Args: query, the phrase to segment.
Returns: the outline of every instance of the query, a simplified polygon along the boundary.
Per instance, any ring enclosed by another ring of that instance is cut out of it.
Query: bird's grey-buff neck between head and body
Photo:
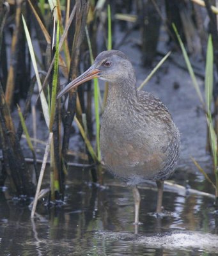
[[[107,96],[107,105],[114,106],[115,108],[126,108],[136,104],[137,90],[136,79],[122,79],[116,83],[109,83],[109,92]]]

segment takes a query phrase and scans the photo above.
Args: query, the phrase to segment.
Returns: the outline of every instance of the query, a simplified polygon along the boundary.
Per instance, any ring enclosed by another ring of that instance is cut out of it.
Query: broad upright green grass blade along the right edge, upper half
[[[214,52],[212,44],[212,36],[209,35],[207,51],[206,51],[206,68],[205,68],[205,99],[206,110],[210,111],[212,102],[212,93],[214,85]]]

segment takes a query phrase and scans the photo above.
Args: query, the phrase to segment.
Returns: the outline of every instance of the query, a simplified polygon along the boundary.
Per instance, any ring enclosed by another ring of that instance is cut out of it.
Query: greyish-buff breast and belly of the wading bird
[[[129,115],[104,113],[100,130],[102,160],[115,175],[128,179],[135,173],[152,179],[164,166],[166,156],[153,124],[139,124]]]

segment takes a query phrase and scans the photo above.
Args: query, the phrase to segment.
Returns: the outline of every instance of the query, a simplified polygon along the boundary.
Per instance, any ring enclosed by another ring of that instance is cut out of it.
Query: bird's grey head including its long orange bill
[[[130,76],[134,76],[134,70],[132,64],[123,52],[116,50],[103,51],[98,54],[93,65],[91,65],[88,70],[67,84],[65,88],[59,92],[58,98],[72,88],[93,78],[119,84],[123,80],[130,79]]]

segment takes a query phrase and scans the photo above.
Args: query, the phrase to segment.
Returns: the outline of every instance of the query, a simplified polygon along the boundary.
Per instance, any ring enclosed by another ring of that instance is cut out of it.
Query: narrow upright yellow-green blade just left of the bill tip
[[[58,85],[58,60],[59,60],[59,22],[57,22],[56,52],[54,56],[54,74],[52,79],[51,115],[50,115],[50,125],[49,125],[50,132],[52,131],[54,115],[56,112],[56,94],[57,94],[57,85]]]

